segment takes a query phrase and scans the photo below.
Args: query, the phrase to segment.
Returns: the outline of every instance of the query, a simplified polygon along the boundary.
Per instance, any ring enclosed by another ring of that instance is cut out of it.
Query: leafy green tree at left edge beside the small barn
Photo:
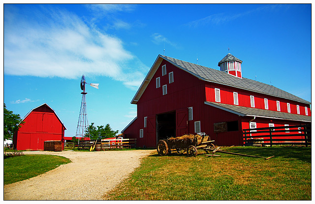
[[[15,131],[21,128],[22,119],[19,114],[14,114],[13,111],[7,110],[3,103],[3,140],[10,139]]]

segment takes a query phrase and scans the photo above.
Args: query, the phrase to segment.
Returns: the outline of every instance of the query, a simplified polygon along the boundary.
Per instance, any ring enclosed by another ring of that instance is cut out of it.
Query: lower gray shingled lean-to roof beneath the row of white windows
[[[205,102],[205,104],[212,105],[214,107],[221,108],[223,110],[233,112],[235,114],[239,114],[242,116],[257,116],[257,117],[276,118],[276,119],[295,120],[295,121],[307,121],[307,122],[311,122],[311,119],[312,119],[311,116],[306,116],[306,115],[284,113],[284,112],[279,112],[279,111],[244,107],[244,106],[238,106],[238,105],[230,105],[230,104],[224,104],[224,103],[219,103],[219,102]]]

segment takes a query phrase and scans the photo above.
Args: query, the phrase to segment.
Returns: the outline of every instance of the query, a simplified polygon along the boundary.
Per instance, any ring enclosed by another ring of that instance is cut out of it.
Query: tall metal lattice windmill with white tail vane
[[[85,81],[85,76],[82,75],[81,82],[80,82],[80,88],[83,92],[82,94],[82,102],[81,102],[81,110],[79,115],[79,121],[78,121],[78,127],[77,132],[75,134],[75,137],[89,137],[90,138],[90,130],[89,130],[89,121],[88,121],[88,114],[87,114],[87,103],[85,101],[85,95],[87,92],[85,92],[85,84],[88,84]],[[98,89],[98,84],[90,84],[92,87]],[[80,141],[80,138],[79,138]]]

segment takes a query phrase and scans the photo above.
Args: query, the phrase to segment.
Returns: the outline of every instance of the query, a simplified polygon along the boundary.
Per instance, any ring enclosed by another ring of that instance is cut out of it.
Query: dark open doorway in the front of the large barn
[[[176,136],[176,112],[157,115],[158,140]]]

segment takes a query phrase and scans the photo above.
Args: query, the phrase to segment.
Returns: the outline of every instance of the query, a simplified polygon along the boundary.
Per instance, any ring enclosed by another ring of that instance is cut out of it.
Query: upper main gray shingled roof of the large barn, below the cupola
[[[159,55],[159,56],[175,64],[175,66],[177,65],[180,68],[183,68],[189,73],[205,81],[219,83],[219,84],[232,86],[232,87],[236,87],[240,89],[245,89],[245,90],[249,90],[253,92],[258,92],[258,93],[262,93],[262,94],[266,94],[270,96],[289,99],[296,102],[303,102],[303,103],[311,104],[311,102],[308,102],[304,99],[294,96],[293,94],[290,94],[272,85],[268,85],[268,84],[255,81],[252,79],[244,78],[244,77],[238,78],[217,69],[207,68],[201,65],[196,65],[193,63],[185,62],[185,61],[174,59],[171,57],[167,57],[163,55]]]

